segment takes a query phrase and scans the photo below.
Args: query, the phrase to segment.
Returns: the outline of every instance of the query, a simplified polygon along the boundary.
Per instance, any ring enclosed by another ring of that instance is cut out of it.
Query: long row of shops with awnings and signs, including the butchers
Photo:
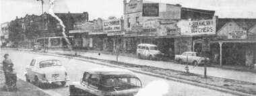
[[[96,19],[70,30],[73,47],[136,53],[141,43],[155,44],[163,53],[203,52],[216,64],[253,66],[256,62],[256,19],[228,19],[215,11],[181,5],[124,0],[124,17]]]

